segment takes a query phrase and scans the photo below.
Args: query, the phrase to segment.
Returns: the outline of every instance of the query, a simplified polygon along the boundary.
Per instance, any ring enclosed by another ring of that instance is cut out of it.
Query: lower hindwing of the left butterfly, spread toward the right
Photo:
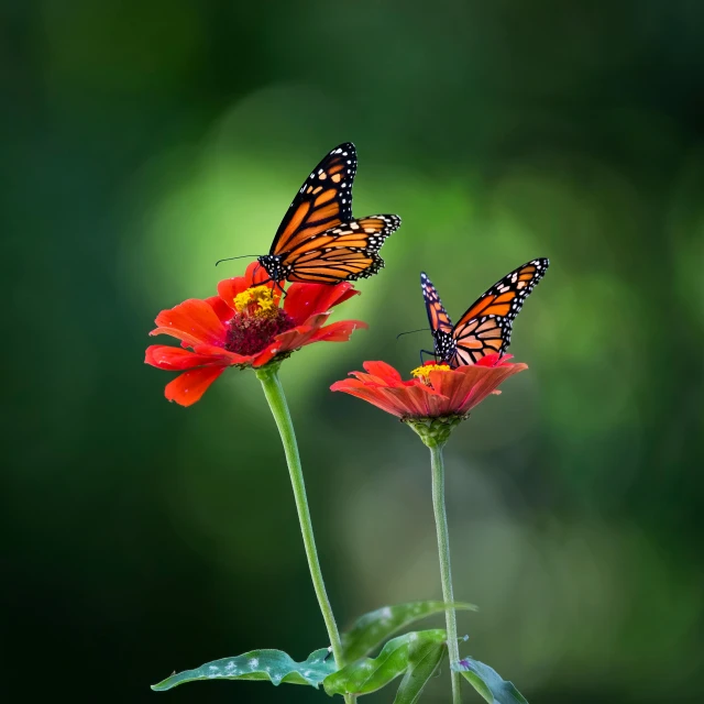
[[[376,274],[384,266],[378,250],[400,226],[397,216],[370,216],[314,234],[287,252],[282,265],[288,280],[337,284]]]

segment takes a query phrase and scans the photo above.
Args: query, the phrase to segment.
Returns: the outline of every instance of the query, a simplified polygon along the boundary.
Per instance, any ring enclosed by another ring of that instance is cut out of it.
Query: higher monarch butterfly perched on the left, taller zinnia
[[[376,274],[378,251],[398,216],[352,217],[356,150],[345,142],[316,166],[278,226],[270,253],[257,257],[272,280],[338,284]]]

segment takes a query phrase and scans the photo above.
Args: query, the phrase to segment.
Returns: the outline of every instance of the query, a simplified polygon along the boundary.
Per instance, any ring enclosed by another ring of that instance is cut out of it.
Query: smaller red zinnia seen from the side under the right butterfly
[[[449,431],[487,396],[499,394],[497,387],[505,380],[528,369],[509,359],[509,354],[488,354],[476,364],[454,370],[447,364],[428,362],[414,370],[415,378],[407,382],[386,362],[364,362],[366,374],[352,372],[355,378],[336,382],[330,388],[397,416],[417,432],[422,428]]]

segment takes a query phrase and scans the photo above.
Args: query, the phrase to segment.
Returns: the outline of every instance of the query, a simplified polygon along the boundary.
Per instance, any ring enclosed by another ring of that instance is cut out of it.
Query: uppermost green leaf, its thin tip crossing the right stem
[[[453,604],[453,606],[457,609],[476,610],[476,606],[464,602]],[[345,662],[370,654],[372,650],[400,628],[426,616],[442,613],[444,609],[443,602],[411,602],[396,606],[384,606],[360,616],[352,628],[342,634],[342,652]]]

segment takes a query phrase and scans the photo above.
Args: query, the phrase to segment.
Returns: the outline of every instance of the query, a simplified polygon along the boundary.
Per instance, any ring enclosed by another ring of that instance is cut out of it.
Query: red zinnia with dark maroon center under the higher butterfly
[[[346,342],[360,320],[326,326],[332,308],[358,295],[352,284],[292,284],[282,293],[253,262],[244,276],[218,284],[218,295],[190,298],[162,310],[150,334],[170,334],[180,348],[153,344],[144,361],[169,372],[185,372],[166,385],[165,395],[182,406],[195,404],[229,366],[261,367],[312,342]],[[184,349],[190,348],[190,350]]]

